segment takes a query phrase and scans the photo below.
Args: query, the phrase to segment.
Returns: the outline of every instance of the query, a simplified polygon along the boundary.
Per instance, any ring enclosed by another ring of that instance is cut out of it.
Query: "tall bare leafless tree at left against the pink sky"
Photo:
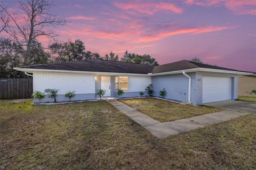
[[[46,36],[49,39],[55,41],[57,36],[54,31],[46,30],[47,27],[64,25],[67,21],[63,18],[59,18],[54,14],[49,13],[50,7],[53,5],[52,1],[47,0],[27,0],[24,2],[19,2],[19,7],[25,13],[23,20],[25,21],[23,25],[20,25],[14,14],[7,11],[3,5],[0,4],[2,10],[14,23],[14,27],[8,27],[5,29],[6,32],[15,40],[22,38],[23,43],[26,46],[26,55],[24,56],[23,65],[29,64],[28,53],[31,48],[31,44],[37,40],[40,36]]]

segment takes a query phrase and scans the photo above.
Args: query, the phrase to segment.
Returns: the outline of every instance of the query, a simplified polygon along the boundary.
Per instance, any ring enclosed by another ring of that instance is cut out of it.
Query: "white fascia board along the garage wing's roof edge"
[[[151,75],[152,76],[156,76],[156,75],[167,75],[167,74],[179,74],[179,73],[182,73],[183,71],[185,71],[186,73],[196,72],[196,71],[205,71],[205,72],[242,74],[242,75],[251,75],[252,74],[252,73],[241,72],[241,71],[229,71],[229,70],[219,70],[219,69],[195,68],[195,69],[187,69],[187,70],[170,71],[170,72],[164,72],[164,73],[155,73],[155,74],[151,74]]]

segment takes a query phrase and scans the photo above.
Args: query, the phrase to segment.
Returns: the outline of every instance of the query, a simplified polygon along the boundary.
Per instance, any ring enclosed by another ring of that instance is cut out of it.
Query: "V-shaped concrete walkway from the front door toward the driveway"
[[[248,114],[235,111],[221,111],[161,123],[154,118],[149,117],[117,100],[106,101],[115,106],[120,112],[130,117],[133,121],[140,124],[143,128],[147,129],[150,133],[159,139],[163,139],[171,135],[177,135],[183,132],[188,132],[197,128],[203,128],[206,125],[228,121],[232,118]]]

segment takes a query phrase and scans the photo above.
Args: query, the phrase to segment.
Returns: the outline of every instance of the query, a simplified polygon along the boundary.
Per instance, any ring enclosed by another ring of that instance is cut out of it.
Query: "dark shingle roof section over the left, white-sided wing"
[[[126,62],[107,61],[107,60],[81,60],[81,61],[75,61],[75,62],[30,65],[30,66],[23,66],[20,68],[148,74],[148,73],[151,73],[154,66],[151,66],[148,64],[135,64],[135,63],[126,63]]]

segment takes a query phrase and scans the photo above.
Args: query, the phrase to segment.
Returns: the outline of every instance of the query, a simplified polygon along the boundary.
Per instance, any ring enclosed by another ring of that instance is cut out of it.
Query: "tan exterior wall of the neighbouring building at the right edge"
[[[239,96],[256,96],[250,95],[247,92],[251,92],[256,89],[256,76],[253,75],[239,75],[238,76],[238,95]],[[247,91],[247,92],[246,92]]]

